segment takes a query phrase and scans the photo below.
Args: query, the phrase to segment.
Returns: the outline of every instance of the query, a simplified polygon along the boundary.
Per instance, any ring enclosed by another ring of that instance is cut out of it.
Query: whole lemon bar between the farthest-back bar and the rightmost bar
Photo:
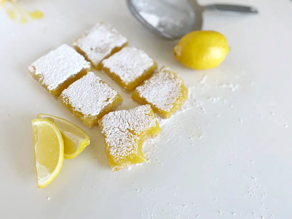
[[[144,51],[135,47],[124,47],[102,61],[102,70],[127,92],[132,91],[157,68],[156,63]]]

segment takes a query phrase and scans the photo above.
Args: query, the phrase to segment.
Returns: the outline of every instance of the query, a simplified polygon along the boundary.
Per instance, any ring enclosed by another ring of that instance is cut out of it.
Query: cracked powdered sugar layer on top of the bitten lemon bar
[[[137,154],[137,135],[157,125],[151,106],[143,105],[129,111],[108,113],[102,117],[101,132],[112,159],[119,162],[127,156]]]

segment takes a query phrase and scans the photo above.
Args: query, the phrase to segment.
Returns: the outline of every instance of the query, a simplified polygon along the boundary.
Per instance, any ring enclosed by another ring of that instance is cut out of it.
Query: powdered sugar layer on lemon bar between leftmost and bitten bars
[[[117,91],[102,82],[93,72],[88,72],[65,89],[61,98],[86,117],[100,114],[117,95]]]

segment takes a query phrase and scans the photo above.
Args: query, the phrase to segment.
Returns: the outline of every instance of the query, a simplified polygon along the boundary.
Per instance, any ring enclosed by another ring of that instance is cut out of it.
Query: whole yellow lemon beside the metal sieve
[[[196,70],[217,67],[228,52],[226,38],[212,30],[190,32],[173,48],[178,61]]]

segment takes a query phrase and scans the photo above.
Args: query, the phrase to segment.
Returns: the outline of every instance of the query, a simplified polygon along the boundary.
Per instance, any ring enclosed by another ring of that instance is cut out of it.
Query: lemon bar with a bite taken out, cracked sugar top
[[[142,145],[160,133],[150,105],[110,112],[99,121],[105,151],[112,171],[145,162]]]

